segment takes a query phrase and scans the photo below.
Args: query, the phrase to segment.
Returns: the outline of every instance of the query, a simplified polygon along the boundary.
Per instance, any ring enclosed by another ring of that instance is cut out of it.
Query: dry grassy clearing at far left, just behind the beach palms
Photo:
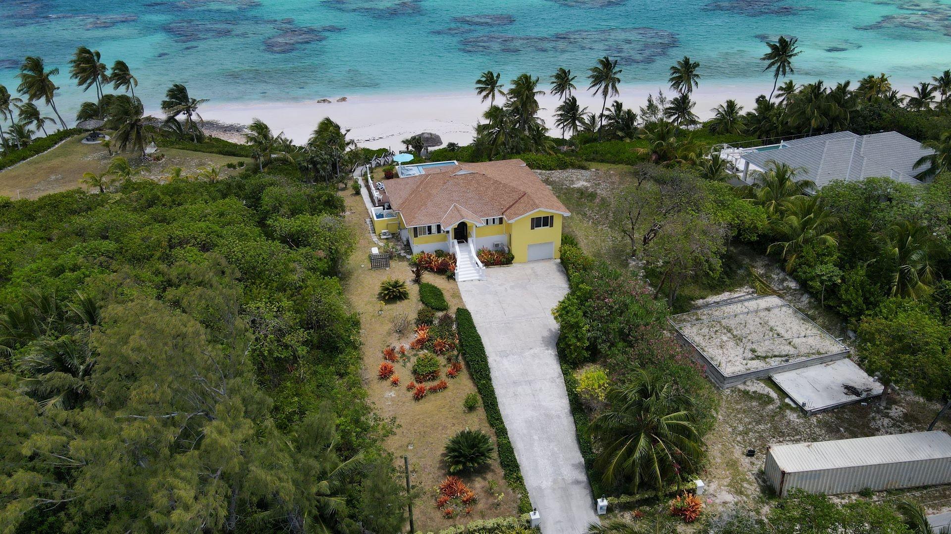
[[[35,199],[49,193],[58,193],[76,187],[85,187],[79,181],[87,172],[106,171],[112,157],[102,144],[83,144],[84,135],[78,135],[59,144],[39,156],[0,171],[0,196],[10,199]],[[150,180],[159,180],[166,169],[182,167],[183,176],[194,175],[199,167],[215,165],[222,167],[222,176],[238,170],[224,168],[227,163],[237,163],[242,158],[205,154],[175,148],[162,148],[165,159],[161,162],[141,162],[132,154],[122,154],[136,167],[142,168],[139,175]]]

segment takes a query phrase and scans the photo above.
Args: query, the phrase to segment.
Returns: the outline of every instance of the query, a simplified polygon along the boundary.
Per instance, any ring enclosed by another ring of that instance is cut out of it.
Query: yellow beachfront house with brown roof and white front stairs
[[[413,253],[487,248],[515,262],[560,257],[562,219],[571,215],[521,160],[436,162],[398,167],[383,181],[378,233],[398,236]]]

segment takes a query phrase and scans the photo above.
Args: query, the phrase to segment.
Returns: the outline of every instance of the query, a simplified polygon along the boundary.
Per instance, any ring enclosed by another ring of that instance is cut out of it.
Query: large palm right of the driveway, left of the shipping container
[[[640,371],[607,398],[609,408],[591,424],[605,486],[637,492],[648,484],[659,492],[680,473],[699,467],[704,443],[694,426],[692,397]]]

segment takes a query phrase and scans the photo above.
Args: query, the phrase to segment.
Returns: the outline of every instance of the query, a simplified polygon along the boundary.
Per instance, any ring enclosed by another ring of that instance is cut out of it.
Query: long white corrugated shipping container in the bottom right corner
[[[854,493],[951,483],[951,436],[941,431],[776,445],[767,450],[766,476],[781,497]]]

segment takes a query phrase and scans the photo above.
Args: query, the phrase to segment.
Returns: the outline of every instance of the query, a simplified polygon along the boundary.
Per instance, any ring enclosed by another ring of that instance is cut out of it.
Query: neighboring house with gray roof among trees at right
[[[898,132],[857,135],[836,132],[753,148],[725,146],[721,157],[732,163],[740,180],[753,182],[752,171],[763,172],[770,161],[801,169],[797,178],[822,188],[833,180],[889,177],[919,185],[915,168],[922,156],[934,151]]]

